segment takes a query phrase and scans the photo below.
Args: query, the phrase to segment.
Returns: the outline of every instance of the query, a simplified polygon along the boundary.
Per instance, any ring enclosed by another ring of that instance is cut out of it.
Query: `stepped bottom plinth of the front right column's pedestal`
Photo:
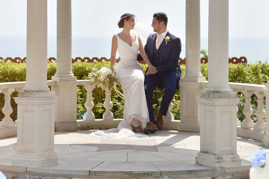
[[[213,155],[199,152],[196,157],[196,164],[208,167],[240,167],[241,160],[238,154]]]

